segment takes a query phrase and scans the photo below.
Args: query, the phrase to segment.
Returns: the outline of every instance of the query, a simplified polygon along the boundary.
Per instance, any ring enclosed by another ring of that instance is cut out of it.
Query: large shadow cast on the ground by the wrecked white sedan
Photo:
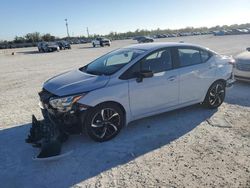
[[[33,161],[39,152],[24,142],[30,124],[0,131],[1,187],[71,187],[186,135],[216,110],[199,105],[137,120],[111,141],[96,143],[86,135],[63,145],[69,156],[57,161]]]

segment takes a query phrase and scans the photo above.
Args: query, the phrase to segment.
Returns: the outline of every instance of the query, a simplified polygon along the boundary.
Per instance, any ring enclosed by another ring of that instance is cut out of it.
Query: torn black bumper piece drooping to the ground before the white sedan
[[[60,155],[62,142],[67,139],[65,137],[67,135],[60,133],[56,124],[46,119],[38,121],[32,115],[32,126],[25,141],[34,147],[41,148],[37,158],[48,158]]]

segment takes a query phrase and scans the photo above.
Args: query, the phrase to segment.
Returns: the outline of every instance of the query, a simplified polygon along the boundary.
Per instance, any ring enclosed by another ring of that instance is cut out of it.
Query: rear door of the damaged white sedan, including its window
[[[178,47],[180,104],[201,102],[212,84],[216,68],[212,54],[196,47]]]

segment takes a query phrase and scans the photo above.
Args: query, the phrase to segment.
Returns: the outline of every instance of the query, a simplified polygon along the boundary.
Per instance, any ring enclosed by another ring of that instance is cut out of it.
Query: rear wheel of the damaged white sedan
[[[208,89],[203,104],[210,109],[218,108],[224,101],[226,95],[226,86],[222,81],[216,81]]]

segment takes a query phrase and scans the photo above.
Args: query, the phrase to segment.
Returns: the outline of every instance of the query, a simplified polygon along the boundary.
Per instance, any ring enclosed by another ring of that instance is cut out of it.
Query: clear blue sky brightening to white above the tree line
[[[0,0],[0,40],[31,32],[58,37],[250,22],[250,0]]]

